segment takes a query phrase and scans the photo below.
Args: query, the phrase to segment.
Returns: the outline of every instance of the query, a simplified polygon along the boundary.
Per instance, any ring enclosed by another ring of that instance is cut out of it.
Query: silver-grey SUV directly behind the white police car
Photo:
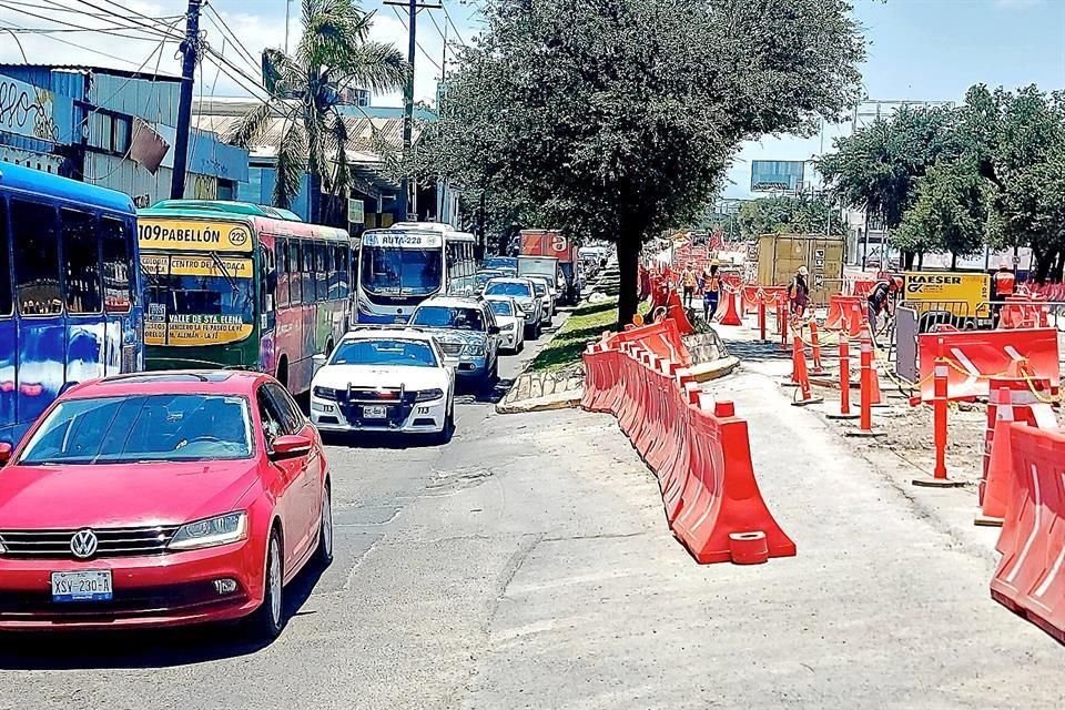
[[[410,326],[433,334],[457,376],[478,384],[498,377],[499,326],[483,298],[428,298],[410,314]]]

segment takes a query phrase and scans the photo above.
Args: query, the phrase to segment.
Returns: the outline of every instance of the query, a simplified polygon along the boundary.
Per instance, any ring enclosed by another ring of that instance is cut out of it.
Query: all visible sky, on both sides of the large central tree
[[[439,1],[439,0],[437,0]],[[787,0],[780,0],[785,2]],[[873,100],[961,101],[974,83],[1016,88],[1035,83],[1044,90],[1065,89],[1065,0],[853,0],[861,23],[869,57],[862,67],[863,90]],[[74,6],[80,0],[62,0]],[[186,0],[93,0],[97,6],[119,3],[134,13],[148,17],[175,17],[184,12]],[[458,34],[468,41],[477,31],[476,4],[470,0],[443,0]],[[42,0],[41,4],[50,4]],[[210,3],[236,32],[252,55],[265,47],[281,47],[285,34],[285,0],[211,0]],[[290,24],[293,39],[298,33],[300,0],[292,3]],[[404,21],[381,0],[363,4],[376,10],[374,38],[392,42],[406,51]],[[45,12],[58,20],[91,26],[91,18]],[[133,16],[135,17],[135,14]],[[243,62],[232,44],[226,43],[213,24],[211,12],[203,28],[207,41],[224,50],[227,58],[242,63],[245,71],[256,71]],[[436,20],[434,24],[433,20]],[[95,20],[106,26],[111,22]],[[422,50],[417,57],[415,95],[419,100],[435,97],[436,80],[444,53],[440,30],[448,27],[439,10],[432,17],[423,11],[418,21]],[[48,22],[0,8],[0,27],[47,27]],[[455,30],[448,29],[455,41]],[[21,61],[21,52],[10,36],[0,33],[0,61]],[[30,61],[45,63],[92,63],[135,69],[148,62],[150,69],[179,73],[173,43],[162,54],[158,40],[116,40],[111,36],[64,33],[51,37],[21,36],[22,48]],[[73,47],[70,42],[81,44]],[[102,52],[102,53],[101,53]],[[110,57],[105,55],[110,54]],[[435,64],[435,65],[434,65]],[[201,82],[207,94],[246,93],[241,83],[220,72],[204,68]],[[197,88],[197,91],[200,89]],[[375,97],[377,105],[399,105],[398,94]],[[825,150],[832,139],[850,132],[850,124],[828,125],[823,131]],[[729,172],[726,194],[748,196],[751,160],[809,160],[819,154],[822,136],[802,140],[793,136],[765,138],[742,146]]]

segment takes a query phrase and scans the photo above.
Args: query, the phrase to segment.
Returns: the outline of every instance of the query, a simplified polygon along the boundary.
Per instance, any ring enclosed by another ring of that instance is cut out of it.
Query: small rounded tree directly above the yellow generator
[[[949,253],[951,268],[960,256],[975,254],[987,229],[987,185],[964,161],[939,163],[917,181],[916,196],[895,233],[895,243],[923,258]]]

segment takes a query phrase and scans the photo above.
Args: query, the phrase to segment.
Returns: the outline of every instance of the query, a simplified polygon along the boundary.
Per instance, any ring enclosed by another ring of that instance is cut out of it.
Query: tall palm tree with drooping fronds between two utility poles
[[[314,195],[346,197],[351,190],[347,125],[336,108],[341,90],[394,91],[410,71],[398,49],[369,41],[373,13],[357,0],[303,0],[302,14],[303,37],[292,54],[263,52],[268,100],[242,116],[230,136],[248,148],[280,123],[274,204],[285,209],[304,172],[311,174]],[[312,210],[320,206],[312,201]]]

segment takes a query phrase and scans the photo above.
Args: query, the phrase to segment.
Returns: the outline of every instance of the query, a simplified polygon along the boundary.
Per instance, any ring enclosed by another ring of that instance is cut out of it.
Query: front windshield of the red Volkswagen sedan
[[[248,458],[247,400],[230,395],[91,397],[59,403],[19,463],[133,464]]]

